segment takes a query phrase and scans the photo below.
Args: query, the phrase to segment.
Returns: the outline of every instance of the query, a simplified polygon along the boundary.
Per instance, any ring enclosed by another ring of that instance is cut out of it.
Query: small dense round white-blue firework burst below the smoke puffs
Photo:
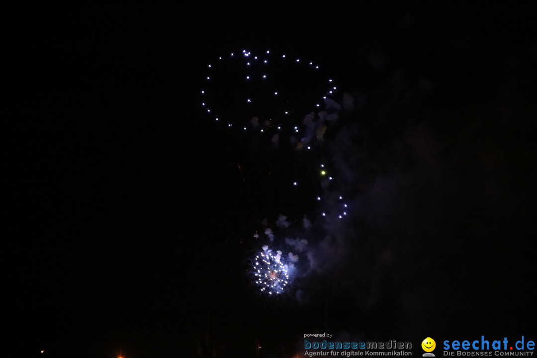
[[[287,266],[281,262],[281,251],[273,254],[271,250],[260,252],[253,260],[255,284],[263,293],[279,295],[289,285]]]

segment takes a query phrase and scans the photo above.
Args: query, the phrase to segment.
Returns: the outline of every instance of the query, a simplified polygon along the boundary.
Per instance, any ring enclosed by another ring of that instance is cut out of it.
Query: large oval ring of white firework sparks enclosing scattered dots
[[[315,135],[302,123],[304,115],[318,111],[336,89],[316,63],[270,50],[218,56],[207,64],[204,82],[200,102],[209,118],[269,138],[288,132],[311,141]],[[261,121],[250,124],[252,117]],[[291,123],[298,126],[291,129]]]

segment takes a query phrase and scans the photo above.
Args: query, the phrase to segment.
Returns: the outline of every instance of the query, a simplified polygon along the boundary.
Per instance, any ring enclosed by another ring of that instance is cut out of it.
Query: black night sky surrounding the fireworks
[[[271,6],[2,11],[6,357],[196,356],[208,322],[233,357],[325,328],[535,332],[535,9]],[[314,57],[357,99],[326,156],[358,209],[307,298],[249,286],[278,193],[199,107],[208,59],[242,48]]]

